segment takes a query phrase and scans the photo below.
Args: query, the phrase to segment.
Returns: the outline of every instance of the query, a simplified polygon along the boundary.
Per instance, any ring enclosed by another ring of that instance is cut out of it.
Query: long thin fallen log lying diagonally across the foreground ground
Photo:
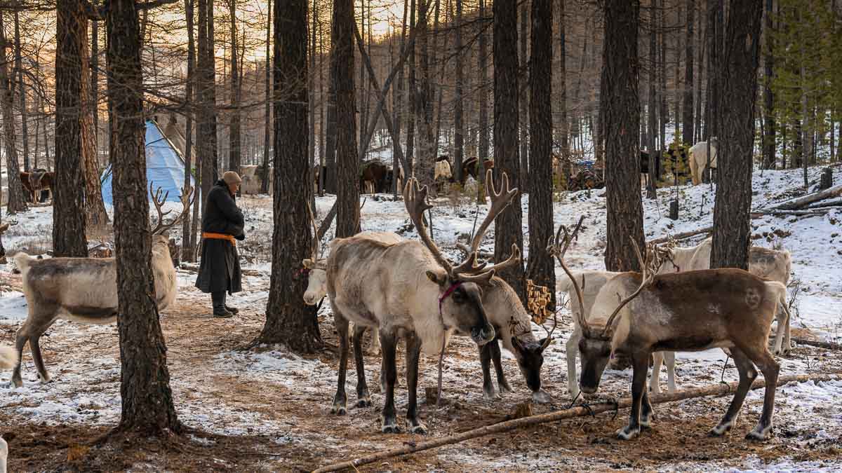
[[[781,376],[778,378],[778,386],[786,385],[791,382],[802,383],[805,381],[827,381],[827,380],[842,380],[842,373],[831,373],[827,375],[789,375],[789,376]],[[729,384],[720,384],[720,385],[711,385],[705,386],[701,388],[694,388],[684,391],[677,391],[672,394],[658,394],[658,395],[651,395],[649,396],[649,401],[652,404],[661,404],[663,402],[673,402],[673,401],[683,401],[685,399],[690,399],[693,397],[701,397],[701,396],[726,396],[727,394],[731,394],[737,390],[736,382],[729,383]],[[754,383],[751,385],[750,389],[760,389],[765,387],[766,383],[765,380],[754,380]],[[608,412],[614,411],[616,409],[623,409],[626,407],[630,407],[632,405],[632,398],[631,397],[623,397],[616,404],[610,402],[600,402],[599,404],[590,404],[589,406],[578,406],[573,407],[570,409],[564,409],[562,411],[556,412],[548,412],[546,414],[540,414],[537,416],[530,416],[530,417],[521,417],[520,419],[514,419],[511,421],[506,421],[502,423],[496,423],[493,425],[489,425],[482,428],[475,428],[473,430],[469,430],[463,433],[457,433],[456,435],[450,435],[447,437],[442,438],[435,438],[433,440],[429,440],[427,442],[419,442],[418,444],[415,443],[408,443],[405,444],[403,447],[399,447],[397,449],[386,450],[383,452],[379,452],[376,454],[365,455],[354,460],[346,460],[339,463],[334,463],[333,465],[322,466],[317,470],[313,470],[313,473],[327,473],[328,471],[338,471],[338,470],[356,470],[356,468],[360,465],[368,465],[370,463],[374,463],[379,460],[385,460],[387,458],[392,458],[396,456],[401,456],[405,454],[413,454],[416,452],[420,452],[423,450],[435,449],[438,447],[442,447],[445,445],[450,444],[458,444],[460,442],[464,442],[466,440],[470,440],[472,438],[477,437],[484,437],[486,435],[491,435],[493,433],[504,433],[509,432],[511,430],[517,428],[524,428],[529,427],[532,425],[537,425],[541,423],[551,423],[560,421],[562,419],[569,419],[572,417],[584,417],[589,416],[592,414],[598,414],[600,412]]]

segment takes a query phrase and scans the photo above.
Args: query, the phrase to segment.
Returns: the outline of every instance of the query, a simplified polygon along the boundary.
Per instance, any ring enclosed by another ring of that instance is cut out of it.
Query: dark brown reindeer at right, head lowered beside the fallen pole
[[[730,348],[739,371],[739,385],[731,406],[710,434],[719,436],[733,427],[749,387],[757,377],[756,365],[766,380],[765,399],[759,423],[747,438],[764,439],[772,427],[780,370],[766,340],[775,305],[786,286],[735,268],[655,275],[658,258],[652,258],[652,247],[646,248],[644,259],[633,240],[632,245],[642,273],[623,273],[611,279],[594,302],[591,321],[579,316],[584,335],[579,341],[583,360],[581,390],[593,394],[599,389],[610,358],[629,360],[634,370],[632,412],[629,424],[617,431],[617,436],[633,438],[651,423],[653,409],[645,385],[649,356],[653,352]],[[573,279],[563,259],[558,260],[568,278]],[[575,279],[573,286],[581,305],[582,291]],[[626,297],[610,316],[602,318],[607,313],[603,309],[613,306],[617,295]],[[599,319],[605,323],[594,323]]]

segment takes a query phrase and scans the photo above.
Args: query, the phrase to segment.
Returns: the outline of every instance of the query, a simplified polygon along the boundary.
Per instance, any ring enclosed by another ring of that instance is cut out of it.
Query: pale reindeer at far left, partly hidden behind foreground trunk
[[[150,184],[150,193],[152,184]],[[152,275],[155,281],[155,301],[159,311],[173,304],[179,285],[175,277],[173,260],[169,254],[167,231],[179,224],[189,212],[193,188],[184,189],[181,203],[184,210],[173,221],[166,223],[161,206],[168,194],[161,196],[161,189],[154,194],[152,203],[157,210],[157,226],[152,230]],[[28,314],[19,328],[15,348],[18,363],[12,382],[23,385],[20,376],[20,357],[29,342],[32,359],[41,383],[51,378],[41,358],[39,340],[57,319],[80,323],[109,324],[117,320],[117,263],[115,258],[50,258],[35,259],[24,252],[14,257],[22,273],[24,295]]]

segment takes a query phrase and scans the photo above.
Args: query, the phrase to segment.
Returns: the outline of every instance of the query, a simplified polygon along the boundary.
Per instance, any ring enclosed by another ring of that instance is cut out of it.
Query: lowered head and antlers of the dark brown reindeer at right
[[[559,229],[557,235],[560,233],[561,228]],[[640,263],[642,272],[641,283],[632,295],[629,295],[626,299],[620,301],[620,304],[608,317],[605,327],[590,325],[584,316],[584,311],[575,311],[576,316],[578,317],[578,326],[582,330],[582,338],[578,343],[578,350],[582,359],[582,375],[579,377],[579,388],[584,394],[594,394],[600,389],[602,373],[605,371],[605,366],[607,366],[611,361],[613,354],[611,352],[611,347],[614,338],[614,322],[617,315],[620,313],[622,308],[626,306],[626,304],[631,302],[635,297],[637,297],[637,295],[640,294],[647,284],[652,282],[655,274],[658,273],[658,268],[660,267],[660,263],[662,261],[661,258],[655,256],[658,253],[655,252],[654,244],[647,245],[646,258],[642,257],[640,247],[637,246],[637,242],[635,242],[633,238],[632,247],[634,247],[634,250],[637,253],[637,261]],[[576,292],[579,307],[584,307],[582,289],[576,279],[573,278],[573,274],[571,274],[567,264],[564,263],[564,258],[562,256],[563,253],[558,251],[557,248],[558,247],[552,245],[551,241],[550,247],[547,249],[551,254],[555,255],[558,263],[562,265],[564,273],[568,275],[568,278],[570,278],[571,281],[573,281],[573,289]],[[622,361],[622,359],[618,360],[620,363],[622,363]]]

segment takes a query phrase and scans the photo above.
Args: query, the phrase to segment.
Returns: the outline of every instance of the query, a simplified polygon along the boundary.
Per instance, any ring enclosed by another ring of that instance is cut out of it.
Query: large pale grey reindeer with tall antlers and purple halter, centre
[[[517,189],[508,189],[508,176],[504,175],[503,180],[506,199],[511,201]],[[475,252],[456,267],[452,266],[424,226],[422,215],[432,208],[427,201],[428,192],[427,186],[418,189],[414,178],[403,189],[404,205],[421,242],[388,244],[369,238],[337,238],[328,257],[328,297],[339,334],[338,387],[332,412],[339,415],[346,412],[349,321],[356,324],[355,331],[360,331],[360,327],[377,327],[386,368],[386,399],[381,412],[381,430],[386,433],[399,431],[394,399],[397,337],[404,337],[407,343],[408,430],[425,433],[426,428],[418,421],[416,393],[421,351],[439,353],[456,330],[470,333],[477,345],[492,341],[494,327],[482,306],[480,287],[489,284],[495,268],[510,265],[515,258],[513,255],[496,267],[486,268],[484,264],[476,264]],[[357,407],[370,406],[359,344],[354,344],[354,359]]]

